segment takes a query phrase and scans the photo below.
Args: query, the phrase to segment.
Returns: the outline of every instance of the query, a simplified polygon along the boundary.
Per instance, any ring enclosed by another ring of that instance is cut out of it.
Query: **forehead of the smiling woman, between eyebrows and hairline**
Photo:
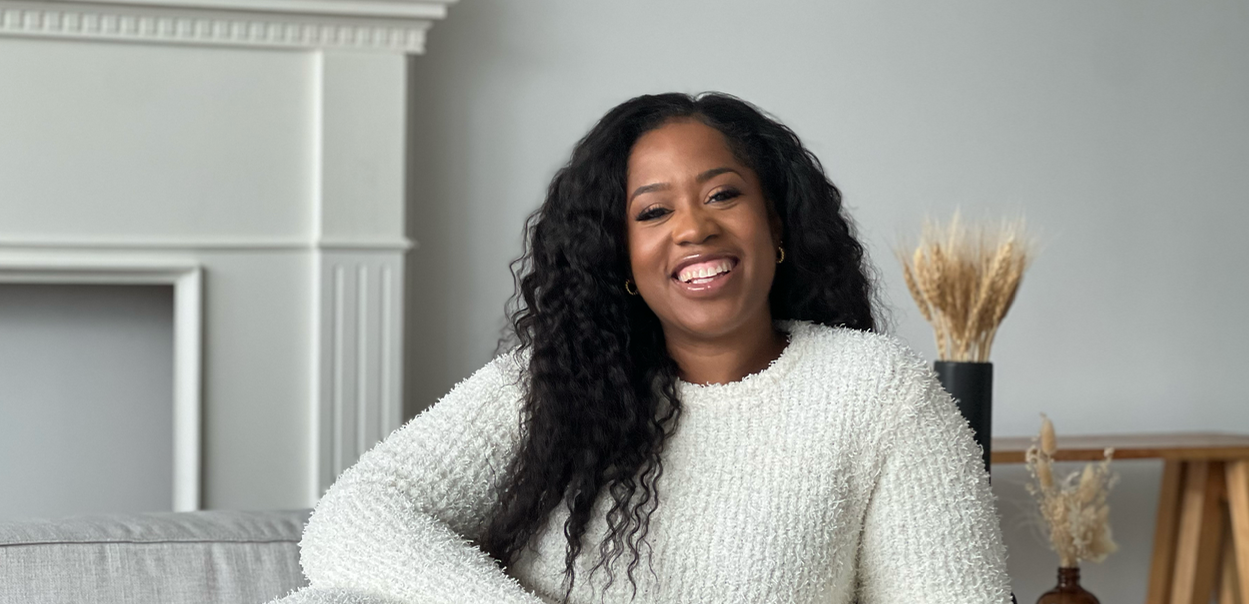
[[[668,181],[722,166],[741,167],[724,135],[697,120],[671,121],[633,144],[628,157],[628,182]]]

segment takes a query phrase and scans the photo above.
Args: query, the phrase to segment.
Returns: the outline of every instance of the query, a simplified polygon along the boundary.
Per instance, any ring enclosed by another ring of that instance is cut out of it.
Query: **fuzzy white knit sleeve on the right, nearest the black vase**
[[[859,549],[862,604],[1005,604],[1005,547],[980,448],[936,374],[903,351],[883,388],[879,478]]]

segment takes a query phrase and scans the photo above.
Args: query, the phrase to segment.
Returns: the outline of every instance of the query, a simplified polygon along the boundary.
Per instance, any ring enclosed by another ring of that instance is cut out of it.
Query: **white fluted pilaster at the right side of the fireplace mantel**
[[[396,250],[335,245],[405,238],[407,62],[318,55],[312,500],[402,416],[402,275]]]

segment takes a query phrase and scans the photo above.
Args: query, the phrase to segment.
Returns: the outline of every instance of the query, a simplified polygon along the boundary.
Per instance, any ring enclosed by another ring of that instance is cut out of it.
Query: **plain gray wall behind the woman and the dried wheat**
[[[896,333],[934,356],[891,247],[924,215],[1025,215],[1043,242],[999,332],[994,431],[1249,432],[1249,5],[465,0],[413,60],[407,408],[485,363],[507,262],[612,105],[723,90],[826,162]],[[1118,464],[1123,547],[1085,569],[1144,599],[1159,465]],[[1020,602],[1053,585],[1019,468],[999,467]]]

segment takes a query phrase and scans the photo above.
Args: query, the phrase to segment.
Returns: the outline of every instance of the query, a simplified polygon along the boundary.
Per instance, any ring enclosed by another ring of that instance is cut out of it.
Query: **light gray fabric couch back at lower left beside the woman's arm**
[[[309,510],[0,522],[0,602],[264,603],[305,584]]]

